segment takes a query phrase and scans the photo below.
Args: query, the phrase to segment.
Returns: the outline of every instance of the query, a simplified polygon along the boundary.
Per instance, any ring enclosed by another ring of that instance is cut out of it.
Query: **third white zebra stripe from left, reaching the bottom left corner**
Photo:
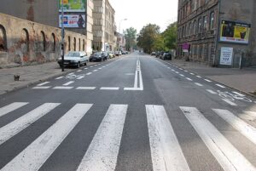
[[[90,109],[90,104],[77,104],[55,124],[28,145],[24,151],[10,161],[1,171],[36,171],[55,151],[80,119]]]

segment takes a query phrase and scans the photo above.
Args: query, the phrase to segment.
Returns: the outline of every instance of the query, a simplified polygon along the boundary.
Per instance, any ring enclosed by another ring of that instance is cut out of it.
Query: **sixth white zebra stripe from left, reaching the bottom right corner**
[[[256,170],[200,111],[195,107],[180,107],[180,109],[224,170]]]

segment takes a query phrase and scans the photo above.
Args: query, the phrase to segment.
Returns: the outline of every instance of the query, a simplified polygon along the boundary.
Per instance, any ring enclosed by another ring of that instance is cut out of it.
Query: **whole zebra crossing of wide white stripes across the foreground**
[[[10,112],[17,111],[29,104],[29,102],[14,102],[1,107],[0,121]],[[80,103],[73,105],[43,134],[20,151],[17,156],[6,165],[0,166],[0,170],[34,171],[40,169],[63,140],[67,138],[67,135],[71,134],[79,121],[91,110],[93,105],[95,104]],[[49,114],[50,111],[55,111],[56,107],[60,106],[61,103],[41,104],[1,127],[0,149],[2,145],[8,143],[9,139],[20,134],[22,130],[30,127],[32,123]],[[124,104],[108,106],[108,111],[104,114],[96,134],[90,141],[90,145],[76,170],[115,170],[128,109],[129,105]],[[212,156],[216,158],[224,170],[256,170],[256,166],[225,138],[225,135],[211,123],[211,120],[204,116],[204,112],[191,106],[178,106],[177,109],[181,111],[192,128],[195,129],[196,134],[207,146],[208,151],[212,153]],[[183,154],[182,146],[177,139],[177,133],[172,128],[172,121],[168,117],[169,113],[166,112],[165,106],[144,105],[143,110],[146,113],[148,123],[148,140],[153,170],[190,170],[188,157]],[[233,113],[225,109],[212,108],[210,110],[229,124],[230,127],[236,129],[239,134],[246,137],[253,145],[256,145],[256,128],[248,123],[248,121],[256,120],[255,111]]]

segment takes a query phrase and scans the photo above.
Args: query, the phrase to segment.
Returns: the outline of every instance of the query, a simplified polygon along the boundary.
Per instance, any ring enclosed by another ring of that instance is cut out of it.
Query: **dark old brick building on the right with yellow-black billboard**
[[[177,56],[209,66],[255,66],[255,3],[179,0]]]

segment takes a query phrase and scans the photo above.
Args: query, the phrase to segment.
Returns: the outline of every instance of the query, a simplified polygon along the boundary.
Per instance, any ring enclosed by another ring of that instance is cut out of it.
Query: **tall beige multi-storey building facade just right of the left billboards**
[[[108,0],[94,0],[93,48],[112,51],[114,48],[114,9]]]

